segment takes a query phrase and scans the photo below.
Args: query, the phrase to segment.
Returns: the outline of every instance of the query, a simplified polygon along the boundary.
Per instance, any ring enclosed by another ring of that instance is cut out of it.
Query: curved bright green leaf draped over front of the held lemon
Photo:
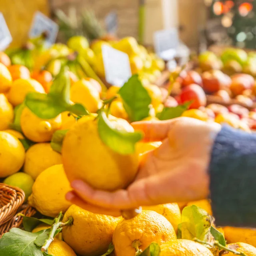
[[[115,122],[108,120],[106,113],[98,114],[98,132],[101,140],[119,154],[132,154],[135,152],[135,144],[143,137],[141,132],[127,132],[116,128]]]

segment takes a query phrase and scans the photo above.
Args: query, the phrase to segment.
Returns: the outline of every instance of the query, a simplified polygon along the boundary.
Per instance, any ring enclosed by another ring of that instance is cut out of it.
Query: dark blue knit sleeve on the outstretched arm
[[[256,134],[224,126],[212,148],[209,172],[216,225],[256,227]]]

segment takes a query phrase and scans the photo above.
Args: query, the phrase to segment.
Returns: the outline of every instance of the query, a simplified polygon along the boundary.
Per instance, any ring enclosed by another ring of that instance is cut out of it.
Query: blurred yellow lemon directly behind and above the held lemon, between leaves
[[[84,105],[90,112],[96,113],[102,106],[100,93],[84,79],[75,82],[70,89],[70,100]]]

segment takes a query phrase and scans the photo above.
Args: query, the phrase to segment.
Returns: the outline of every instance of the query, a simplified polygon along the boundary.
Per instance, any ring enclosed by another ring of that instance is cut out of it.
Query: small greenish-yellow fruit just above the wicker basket
[[[6,178],[4,180],[4,183],[22,189],[25,193],[26,202],[28,200],[28,197],[32,193],[32,186],[34,184],[34,180],[30,175],[24,172],[17,172]]]

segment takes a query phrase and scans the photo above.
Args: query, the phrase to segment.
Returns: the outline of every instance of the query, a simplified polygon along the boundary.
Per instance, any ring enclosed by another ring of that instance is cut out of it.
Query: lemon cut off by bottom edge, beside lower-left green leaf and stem
[[[48,254],[52,256],[76,256],[74,250],[64,241],[54,238],[48,248]]]

